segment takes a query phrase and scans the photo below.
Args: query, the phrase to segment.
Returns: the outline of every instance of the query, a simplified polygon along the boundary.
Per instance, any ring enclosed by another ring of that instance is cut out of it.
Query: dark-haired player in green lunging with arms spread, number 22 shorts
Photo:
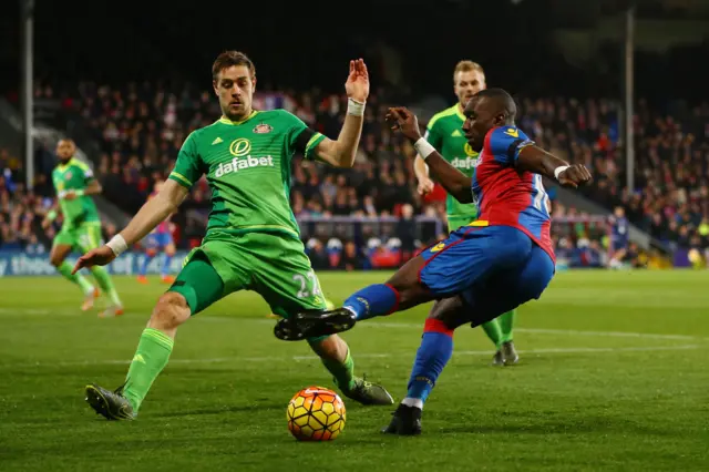
[[[223,116],[185,140],[160,193],[105,246],[84,255],[74,270],[105,265],[175,212],[191,186],[206,175],[212,213],[202,246],[193,250],[173,286],[157,301],[141,336],[123,387],[90,384],[86,401],[110,420],[130,420],[173,350],[177,327],[220,298],[254,290],[274,314],[325,310],[326,302],[300,240],[289,204],[290,161],[296,152],[336,167],[351,167],[362,132],[369,75],[350,61],[342,130],[332,141],[284,111],[255,111],[253,62],[227,51],[212,68]],[[387,390],[356,377],[347,343],[337,336],[308,339],[342,393],[363,404],[392,404]]]

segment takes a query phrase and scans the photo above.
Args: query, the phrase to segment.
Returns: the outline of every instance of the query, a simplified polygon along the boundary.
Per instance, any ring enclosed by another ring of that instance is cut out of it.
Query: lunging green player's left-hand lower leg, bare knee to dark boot
[[[107,420],[133,419],[153,381],[167,365],[177,327],[189,316],[189,306],[182,294],[163,295],[141,336],[125,383],[115,391],[86,386],[91,408]]]

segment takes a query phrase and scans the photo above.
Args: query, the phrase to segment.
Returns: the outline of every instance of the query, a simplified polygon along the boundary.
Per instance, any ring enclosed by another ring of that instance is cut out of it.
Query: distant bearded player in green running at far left
[[[52,172],[52,183],[64,220],[54,237],[50,261],[64,278],[81,288],[84,294],[81,309],[89,310],[99,291],[81,274],[72,274],[71,264],[65,259],[72,250],[83,254],[103,244],[101,219],[91,197],[101,193],[101,184],[94,178],[91,168],[74,157],[75,152],[76,146],[71,140],[61,140],[56,144],[59,165]],[[48,227],[55,217],[56,211],[52,209],[47,214],[42,226]],[[99,316],[105,318],[123,315],[123,304],[106,269],[92,267],[91,273],[111,300]]]

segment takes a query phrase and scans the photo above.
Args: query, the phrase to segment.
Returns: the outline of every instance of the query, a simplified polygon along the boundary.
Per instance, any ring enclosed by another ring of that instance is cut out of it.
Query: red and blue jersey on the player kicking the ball
[[[520,152],[532,144],[516,126],[487,132],[472,184],[479,225],[486,222],[490,226],[517,228],[556,260],[549,235],[548,195],[542,176],[515,167]]]

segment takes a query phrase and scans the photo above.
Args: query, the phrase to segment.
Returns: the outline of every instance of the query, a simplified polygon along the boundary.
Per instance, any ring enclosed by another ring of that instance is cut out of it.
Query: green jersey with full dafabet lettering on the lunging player
[[[325,138],[285,110],[222,117],[187,136],[169,178],[189,188],[206,175],[212,189],[210,232],[261,232],[300,237],[290,209],[290,163],[315,157]]]

